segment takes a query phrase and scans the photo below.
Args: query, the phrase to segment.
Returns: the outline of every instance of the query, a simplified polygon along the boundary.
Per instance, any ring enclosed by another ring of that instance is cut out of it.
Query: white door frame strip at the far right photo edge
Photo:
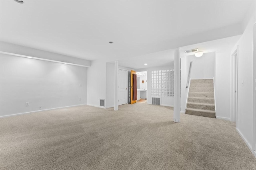
[[[256,151],[256,23],[253,26],[253,141],[252,150]],[[255,152],[256,154],[256,152]]]

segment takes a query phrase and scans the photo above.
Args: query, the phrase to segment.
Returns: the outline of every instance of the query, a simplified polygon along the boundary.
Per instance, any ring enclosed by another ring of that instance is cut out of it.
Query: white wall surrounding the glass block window
[[[162,66],[162,67],[150,67],[150,68],[142,68],[142,69],[136,69],[137,72],[140,71],[147,71],[147,103],[152,104],[152,98],[151,98],[151,83],[152,83],[152,77],[151,72],[153,70],[167,70],[167,69],[174,69],[174,62],[170,63],[170,66]],[[162,106],[172,106],[173,107],[174,98],[172,97],[161,97],[161,105]]]

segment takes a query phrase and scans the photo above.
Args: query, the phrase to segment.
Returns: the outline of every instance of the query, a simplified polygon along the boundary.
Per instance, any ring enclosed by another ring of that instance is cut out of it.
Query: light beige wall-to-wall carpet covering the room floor
[[[256,169],[234,123],[136,103],[0,119],[0,169]]]

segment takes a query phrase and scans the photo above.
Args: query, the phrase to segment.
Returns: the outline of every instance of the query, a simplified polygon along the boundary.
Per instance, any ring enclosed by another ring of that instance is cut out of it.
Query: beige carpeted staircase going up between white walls
[[[215,118],[213,79],[190,80],[186,114]]]

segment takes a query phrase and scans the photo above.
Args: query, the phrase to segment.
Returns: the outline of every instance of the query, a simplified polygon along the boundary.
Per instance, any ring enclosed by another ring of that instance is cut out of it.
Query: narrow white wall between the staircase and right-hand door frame
[[[216,53],[215,64],[216,118],[230,120],[230,53]]]

